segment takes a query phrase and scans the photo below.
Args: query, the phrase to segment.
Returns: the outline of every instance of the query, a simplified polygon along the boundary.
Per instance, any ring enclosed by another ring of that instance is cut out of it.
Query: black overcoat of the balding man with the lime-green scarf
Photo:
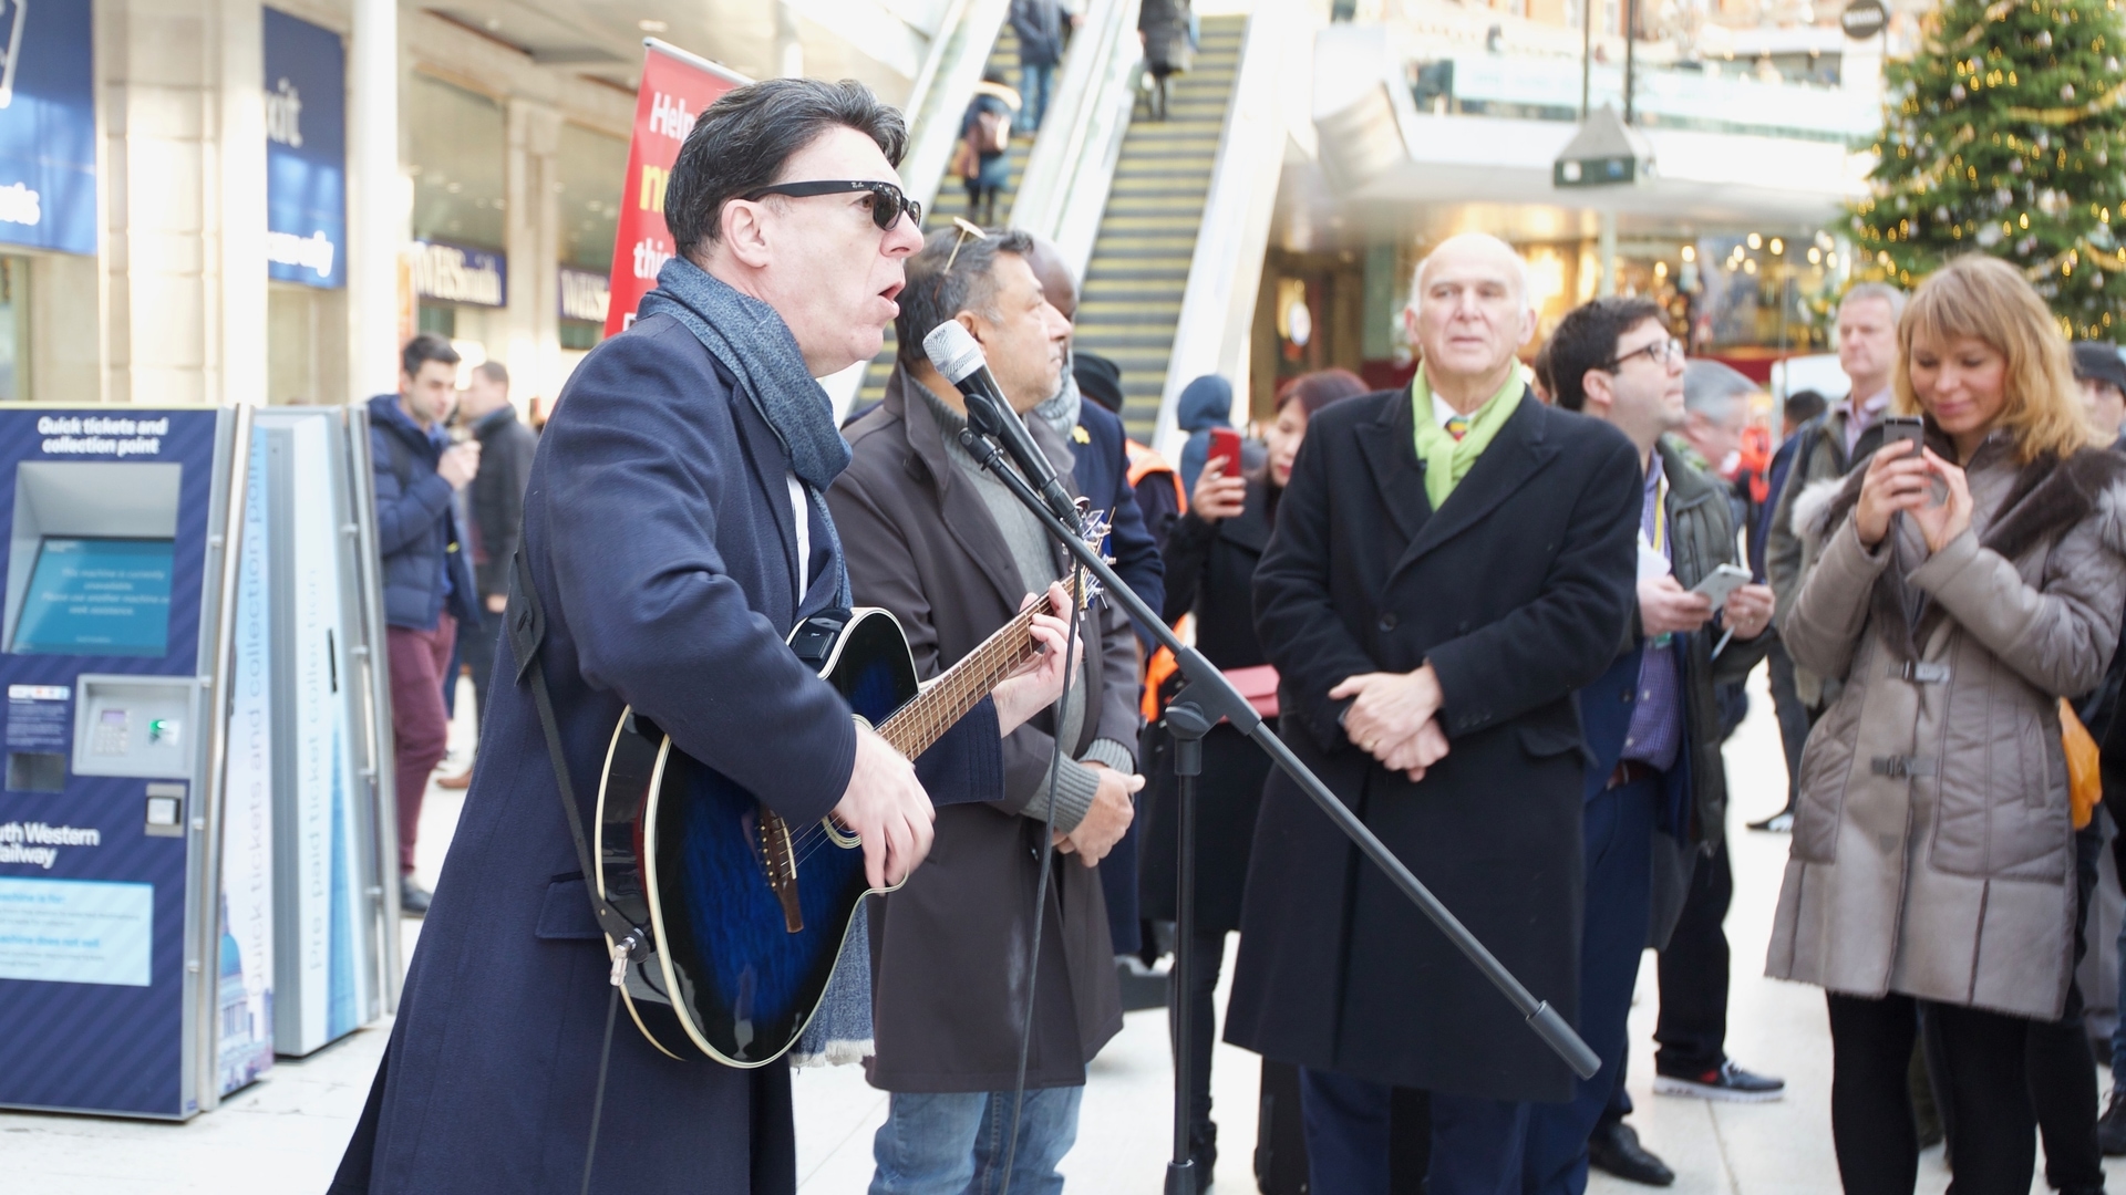
[[[1410,391],[1386,391],[1310,421],[1254,574],[1293,751],[1567,1021],[1586,759],[1571,693],[1624,634],[1639,500],[1622,432],[1529,395],[1435,512]],[[1329,689],[1427,661],[1452,753],[1412,785],[1350,744]],[[1256,819],[1227,1040],[1397,1087],[1571,1095],[1505,997],[1282,776]]]

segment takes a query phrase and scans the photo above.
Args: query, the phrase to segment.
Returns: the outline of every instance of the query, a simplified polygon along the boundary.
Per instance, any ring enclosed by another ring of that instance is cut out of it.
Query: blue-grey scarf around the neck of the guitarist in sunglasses
[[[642,304],[636,306],[638,319],[651,315],[670,315],[687,325],[687,332],[731,370],[738,389],[776,430],[776,440],[782,440],[782,451],[791,459],[791,472],[804,483],[821,525],[827,527],[836,604],[846,610],[853,604],[848,563],[842,559],[842,536],[836,534],[833,515],[827,510],[827,487],[848,468],[850,451],[833,425],[833,402],[806,368],[789,323],[782,323],[776,308],[738,293],[685,257],[665,262],[657,272],[657,289],[642,296]],[[799,585],[806,563],[797,561]],[[802,591],[797,604],[804,604]],[[865,904],[857,906],[819,1012],[791,1050],[793,1065],[859,1063],[872,1053],[872,933]]]

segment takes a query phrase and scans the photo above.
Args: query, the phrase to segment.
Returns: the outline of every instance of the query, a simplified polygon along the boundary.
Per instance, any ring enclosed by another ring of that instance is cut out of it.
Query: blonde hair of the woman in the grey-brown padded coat
[[[2045,453],[2066,457],[2098,447],[2075,387],[2066,336],[2052,310],[2020,270],[1984,253],[1956,257],[1928,274],[1896,321],[1892,406],[1899,415],[1926,415],[1911,389],[1911,342],[1924,338],[1945,347],[1958,336],[1984,340],[2007,357],[2007,406],[1998,427],[2015,436],[2020,464]]]

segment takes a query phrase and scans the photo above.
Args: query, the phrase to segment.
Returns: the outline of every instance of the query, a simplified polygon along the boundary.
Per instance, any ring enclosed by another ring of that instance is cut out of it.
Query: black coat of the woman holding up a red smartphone
[[[1178,621],[1195,615],[1195,642],[1218,668],[1267,663],[1254,636],[1254,568],[1269,544],[1269,485],[1248,483],[1239,515],[1210,523],[1193,510],[1167,534],[1167,604]],[[1169,680],[1169,683],[1178,683]],[[1154,731],[1152,795],[1144,802],[1144,916],[1174,921],[1180,802],[1174,778],[1174,736]],[[1239,893],[1248,882],[1254,810],[1263,804],[1269,757],[1231,725],[1203,736],[1203,778],[1197,780],[1195,923],[1203,931],[1239,929]]]

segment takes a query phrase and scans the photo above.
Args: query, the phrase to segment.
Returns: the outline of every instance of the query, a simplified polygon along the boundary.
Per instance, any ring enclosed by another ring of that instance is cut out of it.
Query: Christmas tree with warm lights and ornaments
[[[2117,0],[1945,0],[1888,66],[1858,276],[1909,287],[1984,251],[2022,266],[2071,336],[2126,332],[2126,26]]]

